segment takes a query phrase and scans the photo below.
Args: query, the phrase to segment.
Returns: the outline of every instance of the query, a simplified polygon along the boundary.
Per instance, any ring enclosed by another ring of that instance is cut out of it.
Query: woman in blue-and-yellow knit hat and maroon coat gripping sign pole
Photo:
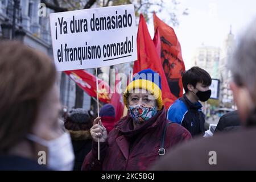
[[[101,118],[94,120],[90,129],[92,151],[86,155],[82,170],[146,170],[160,155],[191,139],[184,127],[166,118],[160,76],[151,69],[143,70],[133,78],[123,94],[123,101],[129,114],[109,135]]]

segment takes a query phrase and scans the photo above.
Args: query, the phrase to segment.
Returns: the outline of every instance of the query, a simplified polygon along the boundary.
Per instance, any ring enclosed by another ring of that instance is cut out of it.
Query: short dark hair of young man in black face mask
[[[195,87],[198,82],[210,86],[212,84],[212,78],[207,71],[199,67],[192,67],[183,73],[182,83],[185,92],[188,92],[188,84]]]

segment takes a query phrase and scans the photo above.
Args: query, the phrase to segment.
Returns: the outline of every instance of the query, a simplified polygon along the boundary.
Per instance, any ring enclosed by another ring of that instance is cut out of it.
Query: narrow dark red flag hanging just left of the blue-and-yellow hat
[[[120,78],[118,77],[118,70],[115,70],[115,92],[112,94],[110,104],[114,106],[115,109],[115,123],[118,122],[123,116],[123,98],[121,97],[120,84],[122,84]]]

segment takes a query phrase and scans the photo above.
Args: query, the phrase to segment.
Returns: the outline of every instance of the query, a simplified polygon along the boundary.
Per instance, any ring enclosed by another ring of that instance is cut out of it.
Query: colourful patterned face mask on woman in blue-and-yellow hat
[[[152,118],[156,113],[156,106],[154,107],[144,107],[142,105],[129,106],[131,117],[133,120],[141,124],[144,121]]]

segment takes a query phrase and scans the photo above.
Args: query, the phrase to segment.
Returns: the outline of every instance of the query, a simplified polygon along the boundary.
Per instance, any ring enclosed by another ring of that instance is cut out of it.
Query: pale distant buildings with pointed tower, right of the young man
[[[220,106],[230,109],[234,109],[234,100],[232,90],[229,88],[229,81],[232,75],[228,65],[235,47],[236,40],[230,28],[222,48],[201,46],[196,49],[192,60],[196,66],[205,69],[212,78],[220,80]]]

